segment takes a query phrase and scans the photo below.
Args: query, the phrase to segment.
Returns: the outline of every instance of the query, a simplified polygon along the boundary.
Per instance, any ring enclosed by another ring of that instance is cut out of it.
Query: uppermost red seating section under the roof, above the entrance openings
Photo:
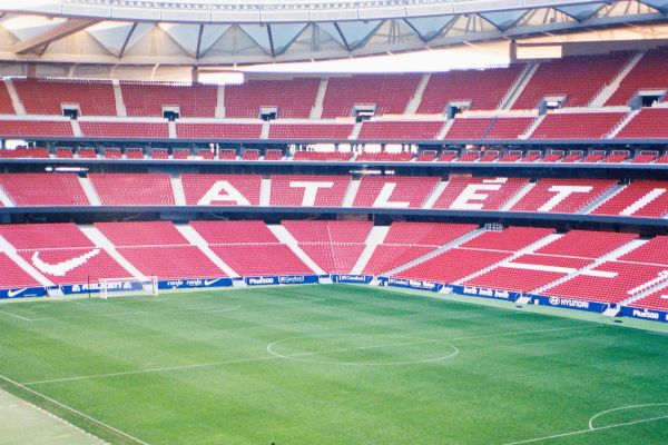
[[[641,55],[606,105],[627,105],[642,89],[665,91],[667,53],[668,49],[659,48]],[[115,87],[111,81],[97,80],[12,79],[11,82],[29,115],[61,115],[62,108],[70,106],[84,116],[118,116],[117,103],[122,103],[131,117],[163,117],[165,110],[178,110],[183,117],[259,118],[264,109],[275,111],[278,118],[307,119],[314,110],[317,112],[321,88],[324,88],[323,118],[351,117],[355,108],[372,108],[376,115],[404,113],[424,79],[426,83],[421,100],[413,105],[414,112],[440,115],[449,103],[465,105],[473,110],[499,109],[522,79],[527,83],[512,103],[513,109],[537,109],[547,97],[561,98],[566,107],[587,107],[638,56],[619,51],[541,61],[537,68],[514,63],[431,75],[250,79],[225,86],[223,95],[217,86],[202,83],[121,81]],[[0,88],[0,99],[1,113],[16,113],[7,85]]]

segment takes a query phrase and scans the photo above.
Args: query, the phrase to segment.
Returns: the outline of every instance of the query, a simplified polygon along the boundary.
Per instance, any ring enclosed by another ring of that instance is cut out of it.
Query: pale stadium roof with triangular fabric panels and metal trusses
[[[0,2],[0,60],[97,66],[350,58],[668,22],[668,0],[21,0]],[[16,75],[12,63],[0,73]]]

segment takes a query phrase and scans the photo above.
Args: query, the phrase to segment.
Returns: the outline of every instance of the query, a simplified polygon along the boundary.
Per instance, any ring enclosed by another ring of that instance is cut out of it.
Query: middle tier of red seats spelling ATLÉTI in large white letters
[[[173,178],[167,174],[89,174],[89,194],[104,206],[174,206]],[[259,175],[180,175],[189,206],[258,206]],[[76,175],[3,174],[6,206],[87,206],[89,197]],[[268,204],[282,207],[352,207],[507,210],[531,212],[664,217],[668,182],[613,179],[451,176],[274,175],[266,184]],[[354,190],[356,188],[356,191]],[[354,196],[352,196],[354,194]]]

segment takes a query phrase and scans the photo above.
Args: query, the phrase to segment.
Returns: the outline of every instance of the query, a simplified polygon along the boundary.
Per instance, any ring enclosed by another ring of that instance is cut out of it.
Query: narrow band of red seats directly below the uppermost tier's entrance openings
[[[592,110],[590,112],[549,112],[541,117],[519,115],[456,117],[444,120],[371,120],[364,121],[354,138],[364,141],[439,140],[517,140],[517,139],[606,139],[622,120],[630,120],[615,135],[616,139],[662,139],[668,122],[668,108],[645,108],[639,113]],[[537,119],[541,119],[537,121]],[[536,128],[534,123],[537,123]],[[169,139],[166,121],[155,120],[79,120],[80,135],[75,135],[69,120],[0,120],[3,137],[80,137],[106,139]],[[259,140],[262,123],[176,122],[174,138],[188,140]],[[268,140],[346,141],[354,134],[352,123],[335,120],[316,123],[269,123]]]

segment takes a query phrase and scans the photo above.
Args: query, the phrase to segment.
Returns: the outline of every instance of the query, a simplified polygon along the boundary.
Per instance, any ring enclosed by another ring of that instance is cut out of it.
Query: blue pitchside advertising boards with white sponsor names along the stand
[[[406,289],[429,290],[433,293],[453,293],[466,297],[489,298],[504,301],[518,301],[523,298],[529,304],[537,306],[559,307],[563,309],[586,310],[591,313],[602,314],[610,307],[609,304],[598,301],[587,301],[577,298],[549,297],[546,295],[522,294],[511,290],[490,289],[475,286],[449,285],[443,283],[433,283],[423,279],[409,279],[396,277],[374,277],[372,275],[353,275],[353,274],[335,274],[335,275],[275,275],[275,276],[255,276],[243,278],[184,278],[184,279],[167,279],[158,280],[158,289],[176,290],[176,289],[196,289],[196,288],[217,288],[230,287],[235,283],[243,283],[246,286],[278,286],[278,285],[296,285],[296,284],[316,284],[326,283],[331,279],[332,283],[342,284],[365,284],[377,286],[401,287]],[[141,284],[136,281],[118,281],[114,283],[115,291],[139,291]],[[27,298],[27,297],[45,297],[52,295],[85,295],[97,294],[100,291],[99,283],[78,284],[78,285],[60,285],[51,287],[21,287],[12,289],[0,289],[0,299]],[[650,310],[637,307],[621,306],[619,312],[620,317],[639,318],[652,322],[668,323],[668,312]]]

